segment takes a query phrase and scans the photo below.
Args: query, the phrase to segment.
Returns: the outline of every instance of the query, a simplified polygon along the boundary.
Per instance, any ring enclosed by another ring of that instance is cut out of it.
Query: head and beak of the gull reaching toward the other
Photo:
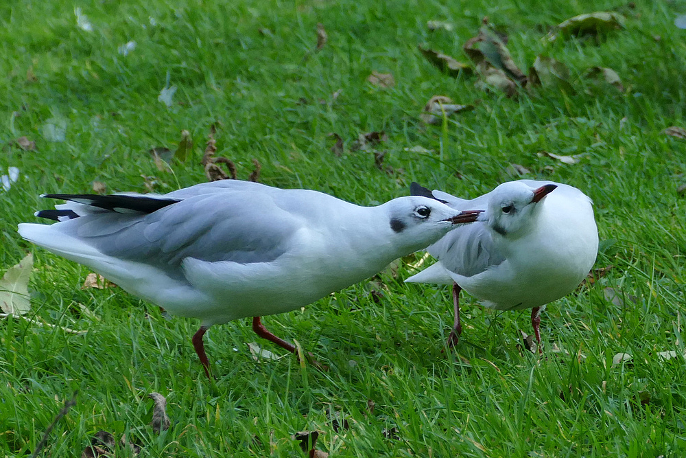
[[[394,244],[407,253],[428,247],[464,222],[474,222],[481,211],[459,211],[422,196],[394,198],[383,204]]]

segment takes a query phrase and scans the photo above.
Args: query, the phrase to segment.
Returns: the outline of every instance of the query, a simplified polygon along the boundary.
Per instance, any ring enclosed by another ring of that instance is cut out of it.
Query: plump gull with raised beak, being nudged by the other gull
[[[448,337],[462,332],[460,290],[495,310],[531,308],[541,350],[541,308],[576,288],[598,254],[598,227],[591,199],[552,181],[518,180],[466,200],[412,183],[410,193],[450,207],[484,210],[471,225],[457,227],[427,251],[438,262],[405,280],[453,285],[455,321]]]

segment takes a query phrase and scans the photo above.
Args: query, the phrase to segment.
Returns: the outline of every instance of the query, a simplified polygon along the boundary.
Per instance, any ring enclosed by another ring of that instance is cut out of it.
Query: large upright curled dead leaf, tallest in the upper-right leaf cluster
[[[494,68],[504,73],[505,78],[522,86],[526,84],[526,75],[512,60],[505,43],[488,26],[481,27],[477,36],[466,41],[462,49],[477,65],[477,72],[486,75],[499,73],[490,70],[490,68]]]

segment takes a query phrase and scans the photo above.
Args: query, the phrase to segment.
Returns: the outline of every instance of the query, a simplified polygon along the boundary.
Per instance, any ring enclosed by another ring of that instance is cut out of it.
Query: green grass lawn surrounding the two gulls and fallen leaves
[[[305,429],[324,432],[318,448],[332,457],[683,456],[684,360],[661,361],[657,352],[684,351],[686,214],[676,190],[686,181],[686,143],[661,130],[686,126],[686,34],[673,25],[685,11],[676,2],[636,2],[619,7],[626,30],[598,42],[541,41],[569,16],[620,3],[93,1],[81,4],[91,32],[76,26],[71,3],[0,5],[0,174],[21,170],[0,194],[0,268],[32,251],[28,317],[88,330],[75,336],[0,321],[0,452],[29,456],[78,389],[42,456],[80,456],[101,429],[133,435],[153,457],[298,456],[290,436]],[[462,44],[486,15],[506,27],[522,69],[539,54],[554,57],[569,66],[576,93],[510,100],[475,88],[475,77],[443,76],[418,53],[427,43],[463,59]],[[431,33],[429,20],[455,30]],[[315,53],[319,22],[329,41]],[[131,40],[137,47],[118,54]],[[615,69],[626,91],[593,89],[583,76],[594,66]],[[371,86],[372,70],[397,84]],[[157,100],[167,74],[178,87],[170,108]],[[434,94],[478,103],[444,128],[427,127],[418,113]],[[45,139],[49,119],[67,123],[64,141]],[[235,161],[240,178],[255,158],[263,183],[364,205],[407,194],[413,180],[477,196],[517,178],[510,163],[524,165],[527,177],[593,198],[605,241],[597,266],[615,268],[543,314],[546,348],[557,343],[569,356],[521,352],[528,312],[495,314],[469,296],[457,352],[442,353],[449,290],[403,284],[413,273],[404,262],[397,277],[381,274],[379,303],[368,295],[379,286],[361,284],[265,319],[327,363],[327,373],[302,369],[293,356],[256,363],[246,346],[256,337],[240,320],[206,334],[218,375],[212,386],[189,341],[197,321],[167,321],[116,288],[81,290],[86,268],[23,242],[16,224],[49,205],[38,199],[43,192],[90,192],[93,181],[109,192],[145,192],[141,175],[154,177],[157,192],[205,181],[199,161],[214,122],[217,155]],[[182,129],[195,142],[192,157],[174,163],[174,175],[160,172],[147,150],[174,149]],[[380,148],[390,173],[375,168],[372,153],[349,150],[372,130],[388,133]],[[344,138],[341,157],[328,133]],[[36,151],[14,146],[22,135]],[[416,145],[434,152],[405,150]],[[583,156],[564,165],[536,154],[543,150]],[[605,286],[637,300],[611,304]],[[632,362],[613,366],[618,352]],[[151,391],[169,403],[172,426],[162,435],[148,426]],[[342,411],[348,430],[333,431],[329,407]],[[383,435],[390,428],[400,439]]]

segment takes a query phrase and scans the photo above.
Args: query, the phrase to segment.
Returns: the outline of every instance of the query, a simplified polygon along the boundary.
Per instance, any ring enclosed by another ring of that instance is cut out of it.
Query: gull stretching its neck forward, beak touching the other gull
[[[477,213],[423,196],[360,207],[311,190],[222,180],[169,194],[44,194],[67,203],[19,234],[171,314],[201,320],[193,347],[211,377],[203,336],[253,317],[264,339],[295,352],[260,317],[307,306],[425,249]]]

